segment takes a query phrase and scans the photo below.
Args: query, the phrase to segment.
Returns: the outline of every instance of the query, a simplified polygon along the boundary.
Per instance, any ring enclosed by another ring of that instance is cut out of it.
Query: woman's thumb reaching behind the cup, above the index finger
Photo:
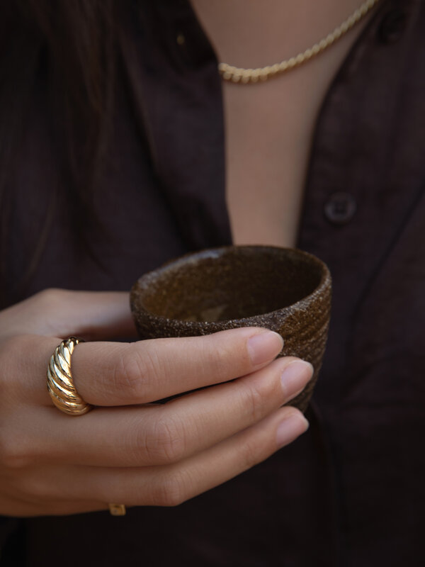
[[[0,337],[21,334],[86,340],[136,337],[130,294],[47,289],[0,313]]]

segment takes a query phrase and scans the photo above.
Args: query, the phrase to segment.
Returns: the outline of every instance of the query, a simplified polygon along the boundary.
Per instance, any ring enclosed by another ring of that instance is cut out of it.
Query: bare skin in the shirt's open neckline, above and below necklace
[[[219,61],[264,67],[339,26],[363,0],[191,0]],[[370,16],[319,57],[275,79],[223,82],[227,206],[236,244],[294,247],[314,125]]]

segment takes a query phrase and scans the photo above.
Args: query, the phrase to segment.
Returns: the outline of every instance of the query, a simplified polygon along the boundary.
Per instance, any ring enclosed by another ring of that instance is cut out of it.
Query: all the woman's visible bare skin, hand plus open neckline
[[[192,3],[219,60],[262,67],[310,47],[360,1]],[[224,84],[234,242],[295,245],[317,113],[366,22],[273,81]],[[134,333],[125,293],[50,290],[0,313],[0,514],[73,514],[108,502],[178,505],[306,430],[299,411],[281,406],[302,390],[312,368],[274,360],[282,347],[274,333],[111,340]],[[72,355],[77,390],[96,406],[78,418],[57,410],[46,388],[50,356],[70,335],[93,341]],[[202,386],[212,387],[153,404]]]

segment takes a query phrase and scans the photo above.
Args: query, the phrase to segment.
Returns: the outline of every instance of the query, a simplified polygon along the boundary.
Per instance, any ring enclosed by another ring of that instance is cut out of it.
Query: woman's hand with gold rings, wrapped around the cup
[[[74,384],[96,408],[73,417],[52,405],[46,370],[61,339],[134,334],[127,293],[49,290],[0,313],[0,514],[178,505],[307,429],[281,406],[312,366],[273,360],[282,340],[257,328],[79,344]]]

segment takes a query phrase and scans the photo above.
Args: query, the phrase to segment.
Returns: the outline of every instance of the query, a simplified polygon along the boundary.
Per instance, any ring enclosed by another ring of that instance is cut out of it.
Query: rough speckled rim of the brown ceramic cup
[[[312,264],[315,264],[320,270],[320,280],[317,286],[313,289],[311,293],[307,296],[301,298],[300,300],[296,301],[295,303],[291,303],[291,305],[286,305],[283,308],[278,308],[273,311],[268,311],[266,313],[258,313],[256,315],[251,315],[250,317],[244,318],[235,318],[235,319],[225,319],[220,321],[190,321],[184,319],[176,319],[176,318],[168,318],[164,317],[164,315],[158,315],[150,310],[147,310],[144,305],[140,303],[140,291],[145,291],[149,288],[149,285],[152,281],[156,281],[158,276],[162,274],[166,274],[170,270],[177,269],[179,266],[187,264],[188,261],[193,260],[193,262],[199,259],[207,259],[207,258],[217,258],[218,256],[222,256],[222,254],[232,252],[235,249],[246,249],[246,250],[254,250],[254,251],[279,251],[283,253],[290,253],[294,256],[303,257],[307,259]],[[145,274],[140,276],[140,278],[135,281],[130,291],[130,303],[131,305],[137,305],[137,310],[143,311],[146,313],[149,318],[157,320],[160,322],[170,322],[170,321],[179,321],[179,323],[185,325],[188,329],[199,329],[203,327],[208,329],[209,327],[216,327],[217,324],[223,324],[226,321],[238,321],[242,323],[254,321],[255,318],[273,316],[273,313],[280,313],[285,315],[290,315],[295,310],[299,310],[300,308],[308,308],[308,306],[314,302],[317,296],[320,296],[324,289],[330,288],[331,286],[331,274],[329,272],[329,268],[327,265],[319,258],[314,256],[314,254],[310,254],[310,252],[305,252],[304,250],[300,250],[298,248],[290,248],[290,247],[280,247],[280,246],[271,246],[271,245],[228,245],[228,246],[220,246],[214,248],[207,248],[198,250],[197,252],[188,252],[183,254],[182,256],[171,259],[168,262],[162,264],[158,268],[147,271]]]

